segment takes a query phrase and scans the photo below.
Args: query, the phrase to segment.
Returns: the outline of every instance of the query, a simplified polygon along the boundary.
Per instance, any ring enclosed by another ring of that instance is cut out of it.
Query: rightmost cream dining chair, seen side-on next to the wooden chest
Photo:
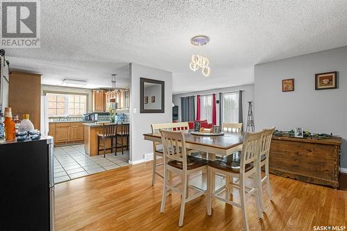
[[[263,128],[264,134],[262,136],[262,142],[261,142],[261,148],[259,152],[260,162],[258,169],[258,187],[259,187],[259,197],[260,197],[260,207],[262,208],[262,211],[265,211],[264,207],[264,196],[262,193],[262,184],[264,181],[266,181],[266,190],[267,195],[269,196],[269,199],[272,200],[272,194],[271,194],[271,185],[270,185],[270,176],[269,176],[269,153],[270,153],[270,146],[271,146],[271,138],[273,131],[275,130],[275,127],[272,128]],[[265,166],[265,176],[262,178],[262,166]]]

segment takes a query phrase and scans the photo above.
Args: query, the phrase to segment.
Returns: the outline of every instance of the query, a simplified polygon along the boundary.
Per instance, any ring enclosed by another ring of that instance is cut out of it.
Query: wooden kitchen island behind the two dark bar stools
[[[105,126],[109,126],[115,123],[105,123]],[[117,132],[121,132],[122,126],[128,123],[118,123]],[[87,155],[98,155],[98,134],[103,133],[103,123],[83,123],[83,132],[84,132],[84,145],[85,153]],[[100,144],[103,144],[101,139]],[[126,150],[128,139],[123,137],[124,150]],[[117,138],[117,143],[121,143],[121,137]],[[119,145],[120,146],[120,145]],[[111,147],[111,139],[105,139],[105,148]],[[117,152],[121,151],[121,147],[117,148]],[[105,153],[111,153],[111,150],[106,150]],[[103,151],[100,151],[100,155],[103,154]]]

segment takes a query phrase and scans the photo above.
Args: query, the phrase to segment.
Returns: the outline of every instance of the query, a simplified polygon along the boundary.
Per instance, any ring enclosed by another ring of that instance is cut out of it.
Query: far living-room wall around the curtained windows
[[[174,94],[172,96],[172,102],[174,105],[178,105],[178,121],[180,121],[180,97],[182,96],[191,96],[191,95],[198,95],[198,94],[217,94],[216,95],[216,100],[219,100],[219,92],[232,92],[232,91],[238,91],[238,90],[244,90],[243,94],[243,112],[244,112],[244,124],[246,124],[247,121],[247,112],[248,112],[248,101],[254,101],[254,85],[242,85],[242,86],[237,86],[237,87],[226,87],[226,88],[218,88],[218,89],[210,89],[206,91],[201,91],[201,92],[188,92],[185,94]],[[196,98],[195,98],[196,99]],[[196,100],[195,100],[196,101]],[[196,106],[195,106],[196,110]],[[196,112],[195,112],[196,114]],[[212,121],[208,121],[209,123],[212,123]],[[217,104],[217,124],[219,123],[219,104]],[[246,128],[246,127],[245,127]]]

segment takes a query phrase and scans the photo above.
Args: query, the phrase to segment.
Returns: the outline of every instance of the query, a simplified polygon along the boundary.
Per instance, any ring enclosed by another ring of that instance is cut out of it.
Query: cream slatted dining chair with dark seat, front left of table
[[[162,205],[160,212],[164,212],[168,190],[175,191],[181,196],[179,226],[183,225],[185,204],[206,193],[206,190],[192,187],[195,194],[189,195],[189,175],[207,169],[208,160],[187,155],[185,135],[182,131],[160,130],[164,149],[164,189],[162,191]],[[175,173],[181,178],[178,185],[169,180],[169,173]]]

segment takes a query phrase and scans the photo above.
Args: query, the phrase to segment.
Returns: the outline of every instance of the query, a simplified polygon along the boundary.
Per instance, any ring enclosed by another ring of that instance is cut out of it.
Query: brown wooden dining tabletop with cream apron
[[[225,132],[219,136],[193,135],[192,130],[184,130],[186,148],[196,151],[214,153],[221,156],[230,155],[242,149],[244,133]],[[144,139],[151,142],[162,142],[160,132],[144,134]]]

